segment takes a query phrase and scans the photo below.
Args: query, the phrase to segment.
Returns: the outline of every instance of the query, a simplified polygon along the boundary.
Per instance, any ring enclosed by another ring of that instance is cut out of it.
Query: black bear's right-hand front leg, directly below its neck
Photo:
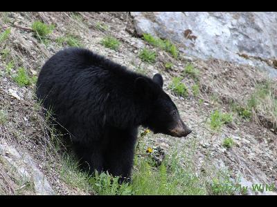
[[[112,176],[118,176],[119,183],[130,181],[136,144],[136,129],[113,130],[104,154],[104,168]]]

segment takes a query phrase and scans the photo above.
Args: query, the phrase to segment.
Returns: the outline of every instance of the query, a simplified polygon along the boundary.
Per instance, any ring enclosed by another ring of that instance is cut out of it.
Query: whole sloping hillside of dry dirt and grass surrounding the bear
[[[222,186],[246,180],[276,185],[277,84],[258,68],[192,59],[167,39],[137,37],[125,12],[0,15],[0,144],[28,152],[56,194],[241,195],[254,193]],[[68,46],[89,48],[150,77],[160,72],[164,90],[193,128],[186,139],[140,128],[132,184],[118,186],[116,177],[80,172],[62,135],[42,116],[37,75]],[[5,168],[2,159],[0,166]],[[35,194],[31,181],[10,175],[7,182],[3,173],[0,194]]]

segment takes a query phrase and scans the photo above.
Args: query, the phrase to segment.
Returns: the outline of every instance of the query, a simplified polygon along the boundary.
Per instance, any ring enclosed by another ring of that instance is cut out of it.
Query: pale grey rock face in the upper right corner
[[[201,59],[222,59],[277,77],[276,12],[131,12],[136,32],[179,43]]]

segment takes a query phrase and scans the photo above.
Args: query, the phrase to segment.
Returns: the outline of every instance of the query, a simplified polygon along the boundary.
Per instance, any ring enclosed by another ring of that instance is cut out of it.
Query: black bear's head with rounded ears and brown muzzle
[[[143,121],[143,126],[150,128],[154,133],[173,137],[186,137],[190,134],[192,130],[181,120],[175,103],[163,91],[163,77],[159,73],[152,79],[137,78],[135,87],[143,95],[150,111]]]

